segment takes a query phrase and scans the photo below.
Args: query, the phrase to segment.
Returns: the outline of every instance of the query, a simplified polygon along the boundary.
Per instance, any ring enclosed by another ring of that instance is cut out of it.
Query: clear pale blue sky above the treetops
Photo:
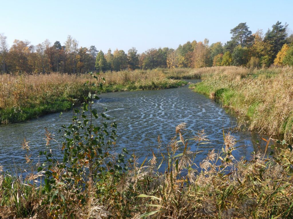
[[[177,48],[186,41],[209,44],[231,37],[230,29],[247,22],[264,33],[277,20],[293,30],[293,1],[56,1],[11,0],[0,4],[0,33],[37,45],[49,39],[63,45],[67,35],[79,46],[95,45],[139,53],[149,48]]]

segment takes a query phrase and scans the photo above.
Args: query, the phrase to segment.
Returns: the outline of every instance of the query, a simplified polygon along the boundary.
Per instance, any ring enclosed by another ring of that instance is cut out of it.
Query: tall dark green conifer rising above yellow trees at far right
[[[286,43],[287,38],[287,27],[288,25],[281,25],[282,22],[277,21],[272,25],[272,30],[268,29],[265,34],[264,41],[271,45],[270,52],[270,63],[273,63],[277,56],[277,53],[281,50],[282,46]]]

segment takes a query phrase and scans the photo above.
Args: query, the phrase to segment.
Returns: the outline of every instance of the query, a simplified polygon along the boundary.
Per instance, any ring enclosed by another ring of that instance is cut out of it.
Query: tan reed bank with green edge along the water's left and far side
[[[180,77],[178,77],[180,75]],[[102,92],[175,88],[187,84],[175,80],[197,77],[192,69],[153,69],[106,72]],[[27,121],[44,114],[71,109],[90,91],[89,75],[0,75],[0,124]]]

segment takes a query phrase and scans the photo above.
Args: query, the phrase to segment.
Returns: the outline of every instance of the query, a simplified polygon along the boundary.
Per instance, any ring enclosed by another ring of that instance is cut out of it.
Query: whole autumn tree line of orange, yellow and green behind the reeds
[[[6,36],[0,34],[0,72],[76,74],[157,67],[293,65],[293,34],[288,36],[287,27],[277,21],[265,34],[262,30],[252,33],[245,22],[231,29],[231,40],[224,45],[222,42],[209,45],[208,39],[194,40],[177,49],[151,48],[141,54],[134,47],[127,53],[118,49],[104,53],[95,46],[79,47],[78,41],[70,35],[64,45],[45,40],[34,46],[27,40],[16,39],[8,48]]]

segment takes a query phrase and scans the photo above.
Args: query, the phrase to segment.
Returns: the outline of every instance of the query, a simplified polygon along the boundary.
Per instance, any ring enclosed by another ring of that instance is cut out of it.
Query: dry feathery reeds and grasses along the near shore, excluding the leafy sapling
[[[197,168],[197,152],[190,148],[200,147],[208,139],[204,131],[198,132],[196,138],[185,139],[185,127],[186,124],[176,127],[167,155],[153,153],[144,165],[138,164],[133,155],[129,170],[118,178],[103,173],[104,178],[85,191],[86,203],[76,205],[72,218],[293,217],[293,152],[277,149],[273,157],[255,152],[250,161],[231,161],[228,158],[236,139],[227,133],[223,150],[219,154],[214,149],[209,151]],[[160,150],[161,140],[158,142]],[[23,147],[29,149],[25,140]],[[164,171],[159,171],[161,165],[166,165]],[[40,177],[41,173],[30,174],[27,180],[40,181]],[[59,218],[41,205],[45,194],[43,187],[37,186],[3,173],[0,167],[0,218]],[[77,191],[65,193],[65,199],[73,197],[74,192]]]

